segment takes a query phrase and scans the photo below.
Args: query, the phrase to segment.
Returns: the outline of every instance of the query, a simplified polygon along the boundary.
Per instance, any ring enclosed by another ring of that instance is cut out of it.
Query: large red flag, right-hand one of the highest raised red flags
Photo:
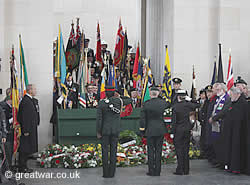
[[[116,35],[115,42],[115,51],[114,51],[114,64],[117,66],[122,58],[122,50],[123,50],[123,41],[124,41],[124,32],[122,29],[121,19],[119,21],[119,28]]]

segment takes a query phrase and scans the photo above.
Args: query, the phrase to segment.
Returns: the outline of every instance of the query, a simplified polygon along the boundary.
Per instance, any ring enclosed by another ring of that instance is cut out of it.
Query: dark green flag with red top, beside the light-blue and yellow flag
[[[77,34],[78,35],[78,34]],[[60,39],[59,39],[60,40]],[[70,72],[78,66],[79,52],[77,50],[77,40],[74,32],[74,23],[71,24],[70,36],[66,47],[66,62]]]

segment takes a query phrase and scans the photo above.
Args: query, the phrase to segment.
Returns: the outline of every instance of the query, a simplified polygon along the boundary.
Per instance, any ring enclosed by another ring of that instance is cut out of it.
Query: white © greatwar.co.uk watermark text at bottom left
[[[16,178],[16,180],[20,179],[79,179],[80,172],[32,172],[32,173],[15,173],[13,174],[11,171],[5,172],[6,178]]]

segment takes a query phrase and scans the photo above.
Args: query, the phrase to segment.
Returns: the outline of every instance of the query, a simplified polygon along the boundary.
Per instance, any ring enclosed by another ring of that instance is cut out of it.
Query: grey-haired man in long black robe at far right
[[[220,119],[224,122],[223,158],[225,170],[232,173],[241,173],[245,170],[245,140],[242,135],[248,120],[248,104],[241,90],[232,87],[229,91],[232,103],[225,110],[213,116],[213,121]],[[244,143],[244,144],[243,144]],[[249,146],[248,146],[249,147]]]

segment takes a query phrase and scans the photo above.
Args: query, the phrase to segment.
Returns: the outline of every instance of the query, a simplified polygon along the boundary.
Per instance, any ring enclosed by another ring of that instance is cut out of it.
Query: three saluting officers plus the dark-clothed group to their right
[[[192,99],[186,90],[181,89],[181,82],[179,78],[173,79],[171,103],[164,100],[161,88],[153,86],[150,88],[151,99],[142,104],[140,132],[147,138],[147,175],[160,176],[161,173],[162,142],[167,132],[163,113],[168,108],[172,108],[170,136],[177,155],[175,175],[189,174],[190,138],[197,122],[201,125],[199,147],[202,158],[208,159],[214,168],[232,174],[250,175],[250,103],[247,83],[238,77],[228,90],[226,84],[216,82],[202,89],[198,99]],[[114,87],[107,88],[115,91]],[[119,100],[121,97],[114,96],[114,92],[110,94],[109,90],[108,93],[97,111],[97,137],[105,144],[102,152],[107,159],[108,152],[110,156],[115,155],[119,135],[117,127],[120,126],[120,112],[114,111],[113,107],[120,110],[122,101]],[[130,101],[132,103],[132,99]],[[114,177],[115,174],[116,159],[110,157],[109,160],[110,163],[103,167],[105,178]]]

